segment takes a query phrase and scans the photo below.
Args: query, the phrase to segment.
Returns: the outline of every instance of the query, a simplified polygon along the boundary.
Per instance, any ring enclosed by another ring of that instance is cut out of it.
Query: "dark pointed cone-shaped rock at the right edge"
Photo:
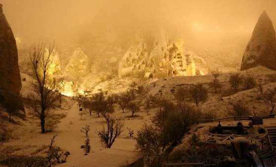
[[[246,46],[240,70],[247,70],[258,65],[276,70],[275,30],[265,11],[261,14]]]

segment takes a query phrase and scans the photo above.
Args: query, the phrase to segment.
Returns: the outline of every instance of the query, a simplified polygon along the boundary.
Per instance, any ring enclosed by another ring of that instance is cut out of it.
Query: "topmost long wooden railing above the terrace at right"
[[[266,116],[232,116],[232,117],[225,117],[225,118],[217,118],[217,119],[212,119],[212,120],[195,120],[197,125],[199,123],[212,123],[212,122],[218,122],[218,121],[240,121],[240,120],[252,120],[252,118],[262,118],[262,119],[268,119],[268,118],[274,118],[276,114],[270,114]]]

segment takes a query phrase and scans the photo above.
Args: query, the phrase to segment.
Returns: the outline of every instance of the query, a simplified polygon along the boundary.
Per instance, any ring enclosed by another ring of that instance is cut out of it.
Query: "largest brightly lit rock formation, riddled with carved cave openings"
[[[163,78],[168,76],[205,75],[201,66],[206,62],[201,57],[184,48],[179,39],[168,46],[166,34],[160,32],[159,40],[154,43],[148,57],[144,44],[131,47],[119,65],[119,77],[133,76],[145,78]]]

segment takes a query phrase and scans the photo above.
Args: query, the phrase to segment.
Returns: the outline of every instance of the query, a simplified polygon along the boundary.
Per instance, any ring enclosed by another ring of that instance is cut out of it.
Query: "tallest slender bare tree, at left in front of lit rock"
[[[35,79],[34,89],[39,96],[34,100],[34,104],[31,107],[40,118],[42,133],[45,133],[45,119],[51,107],[59,98],[58,93],[56,93],[57,87],[54,85],[49,74],[53,63],[51,54],[54,49],[54,44],[49,46],[48,51],[44,48],[46,48],[45,43],[38,43],[29,52],[33,68],[33,77]]]

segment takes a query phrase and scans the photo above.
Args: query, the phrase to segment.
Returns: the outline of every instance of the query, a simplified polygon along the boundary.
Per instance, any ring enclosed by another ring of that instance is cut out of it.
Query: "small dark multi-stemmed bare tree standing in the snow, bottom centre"
[[[110,148],[115,139],[121,135],[125,123],[110,114],[104,115],[104,119],[106,126],[103,125],[103,128],[98,130],[97,133],[105,148]]]

